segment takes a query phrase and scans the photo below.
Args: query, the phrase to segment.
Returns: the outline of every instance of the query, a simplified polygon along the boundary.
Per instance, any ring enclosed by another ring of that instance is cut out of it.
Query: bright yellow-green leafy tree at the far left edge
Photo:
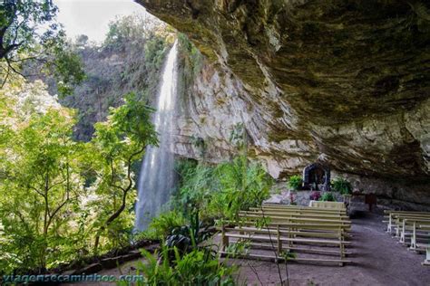
[[[64,257],[64,238],[73,234],[84,189],[73,110],[40,88],[39,82],[26,84],[15,98],[15,92],[0,97],[15,110],[0,124],[6,130],[0,143],[0,253],[6,257],[0,256],[0,265],[43,270],[53,257]]]

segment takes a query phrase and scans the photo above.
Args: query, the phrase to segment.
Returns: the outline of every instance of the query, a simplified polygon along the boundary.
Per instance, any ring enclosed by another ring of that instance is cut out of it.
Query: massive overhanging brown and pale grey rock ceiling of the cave
[[[185,95],[178,154],[230,157],[243,124],[274,177],[322,161],[386,205],[430,206],[428,3],[137,2],[207,57]]]

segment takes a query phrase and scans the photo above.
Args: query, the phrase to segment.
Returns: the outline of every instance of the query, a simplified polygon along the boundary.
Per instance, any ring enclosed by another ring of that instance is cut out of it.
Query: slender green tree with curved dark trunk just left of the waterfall
[[[96,155],[93,162],[99,180],[95,188],[109,201],[103,205],[112,205],[103,209],[97,223],[95,253],[98,252],[100,236],[107,229],[114,229],[114,223],[130,203],[134,187],[132,164],[142,159],[148,145],[158,144],[151,124],[152,111],[142,100],[137,100],[134,93],[130,93],[125,96],[124,105],[111,110],[107,121],[95,124],[94,138],[88,143]]]

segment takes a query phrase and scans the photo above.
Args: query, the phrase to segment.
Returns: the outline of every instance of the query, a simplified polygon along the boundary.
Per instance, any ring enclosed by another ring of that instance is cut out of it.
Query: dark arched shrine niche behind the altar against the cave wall
[[[330,168],[320,163],[303,169],[303,188],[316,191],[330,190]]]

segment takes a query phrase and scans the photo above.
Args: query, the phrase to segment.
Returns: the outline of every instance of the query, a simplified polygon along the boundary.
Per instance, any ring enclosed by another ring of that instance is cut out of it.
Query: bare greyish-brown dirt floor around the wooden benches
[[[424,254],[410,252],[396,239],[386,234],[382,216],[359,213],[352,219],[352,253],[347,259],[353,263],[339,266],[308,263],[288,263],[289,285],[418,285],[430,286],[430,267],[422,266]],[[357,216],[358,216],[357,215]],[[273,262],[231,260],[241,265],[239,282],[246,285],[279,285],[279,270]],[[121,269],[106,270],[99,274],[129,274],[136,262],[128,262]],[[255,272],[258,272],[257,276]],[[282,279],[287,277],[280,266]],[[97,283],[101,285],[103,283]],[[108,285],[108,283],[104,283]],[[71,285],[71,284],[66,284]],[[83,285],[83,283],[80,283]],[[94,285],[94,284],[93,284]]]

